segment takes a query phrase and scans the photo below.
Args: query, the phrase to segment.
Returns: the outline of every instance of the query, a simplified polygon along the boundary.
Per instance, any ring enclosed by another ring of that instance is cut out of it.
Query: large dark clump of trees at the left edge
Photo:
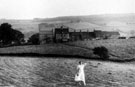
[[[2,45],[21,44],[24,41],[24,34],[12,28],[9,23],[0,25],[0,43]]]

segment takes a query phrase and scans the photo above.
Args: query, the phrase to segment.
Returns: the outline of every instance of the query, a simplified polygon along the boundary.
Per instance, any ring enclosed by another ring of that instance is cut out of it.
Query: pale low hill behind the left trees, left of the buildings
[[[25,38],[28,39],[34,33],[38,31],[38,22],[33,22],[33,20],[8,20],[8,19],[1,19],[0,24],[2,23],[10,23],[12,27],[16,30],[21,31],[24,33]]]

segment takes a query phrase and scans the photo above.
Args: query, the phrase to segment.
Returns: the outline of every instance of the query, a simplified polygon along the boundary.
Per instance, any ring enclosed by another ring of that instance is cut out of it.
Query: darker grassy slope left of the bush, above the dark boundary
[[[93,54],[91,50],[63,44],[27,45],[27,46],[0,48],[0,55],[2,54],[17,55],[23,53],[39,54],[39,55],[41,54],[41,55],[61,55],[61,56],[83,56],[83,57],[91,57]]]

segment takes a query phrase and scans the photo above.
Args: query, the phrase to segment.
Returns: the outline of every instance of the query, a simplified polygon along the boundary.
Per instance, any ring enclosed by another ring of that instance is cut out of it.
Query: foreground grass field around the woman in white
[[[2,87],[78,87],[78,61],[87,62],[86,87],[134,87],[133,64],[68,58],[0,57]]]

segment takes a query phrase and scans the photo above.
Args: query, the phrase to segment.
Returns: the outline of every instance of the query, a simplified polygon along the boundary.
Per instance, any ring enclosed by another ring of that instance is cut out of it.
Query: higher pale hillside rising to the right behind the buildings
[[[135,14],[106,14],[106,15],[88,15],[88,16],[65,16],[47,19],[35,19],[37,22],[48,23],[89,23],[92,24],[90,30],[119,31],[121,36],[135,35]],[[93,24],[95,25],[93,27]],[[72,25],[71,25],[72,26]],[[98,26],[98,27],[97,27]],[[87,28],[88,26],[83,26]]]

